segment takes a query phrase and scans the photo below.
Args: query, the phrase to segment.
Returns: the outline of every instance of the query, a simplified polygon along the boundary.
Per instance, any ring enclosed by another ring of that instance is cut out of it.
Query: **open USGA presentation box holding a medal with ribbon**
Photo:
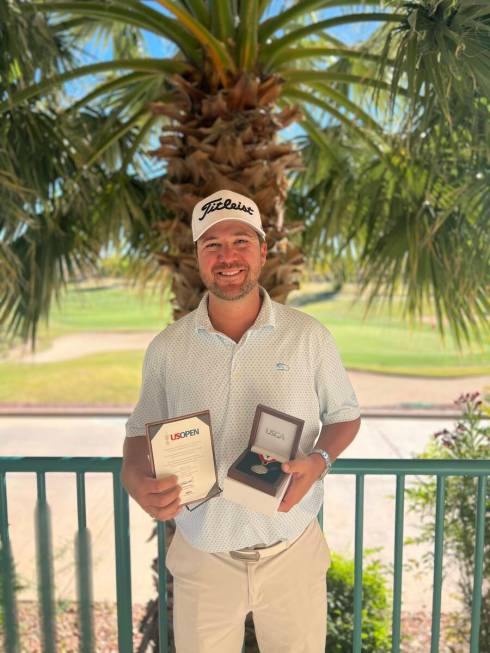
[[[304,420],[259,404],[248,448],[230,466],[223,497],[273,515],[291,478],[281,463],[295,458],[303,426]]]

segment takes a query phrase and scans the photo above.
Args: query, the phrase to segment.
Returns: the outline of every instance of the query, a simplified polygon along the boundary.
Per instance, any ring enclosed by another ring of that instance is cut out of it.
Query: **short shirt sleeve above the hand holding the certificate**
[[[158,336],[157,336],[158,338]],[[126,437],[145,435],[145,424],[167,419],[163,361],[155,338],[145,353],[142,383],[138,403],[126,422]]]

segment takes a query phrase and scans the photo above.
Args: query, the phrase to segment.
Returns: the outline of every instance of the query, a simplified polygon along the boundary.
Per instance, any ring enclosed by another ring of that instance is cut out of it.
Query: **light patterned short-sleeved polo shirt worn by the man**
[[[248,445],[257,404],[304,420],[301,453],[313,449],[323,424],[359,417],[359,405],[335,342],[315,318],[263,298],[255,323],[240,342],[216,331],[199,306],[150,343],[139,401],[126,424],[127,437],[145,435],[145,423],[209,410],[218,482]],[[289,512],[272,517],[224,499],[184,509],[176,522],[193,546],[233,551],[292,539],[317,515],[323,482]]]

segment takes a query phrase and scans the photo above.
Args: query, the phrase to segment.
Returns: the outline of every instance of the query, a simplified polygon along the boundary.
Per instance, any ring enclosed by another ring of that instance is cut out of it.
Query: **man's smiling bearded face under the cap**
[[[215,224],[197,241],[201,279],[225,300],[241,299],[257,286],[266,254],[257,232],[237,220]]]

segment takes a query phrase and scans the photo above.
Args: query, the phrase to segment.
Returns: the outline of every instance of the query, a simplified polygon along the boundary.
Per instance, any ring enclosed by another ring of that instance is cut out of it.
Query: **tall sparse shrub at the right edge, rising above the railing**
[[[490,426],[482,422],[482,402],[479,393],[461,395],[455,402],[462,408],[462,414],[451,430],[444,429],[434,434],[433,440],[419,458],[489,459]],[[415,488],[407,490],[410,510],[421,518],[420,535],[416,543],[434,541],[436,480],[433,477],[420,481]],[[450,476],[446,479],[445,524],[444,524],[444,572],[450,564],[459,570],[459,589],[466,612],[466,619],[453,627],[453,636],[460,643],[467,639],[467,625],[471,619],[473,592],[473,570],[476,540],[476,497],[477,479],[466,476]],[[482,614],[480,624],[481,653],[490,652],[490,486],[486,496],[485,545],[483,552]],[[422,563],[429,566],[433,556]],[[466,624],[464,623],[466,621]]]

